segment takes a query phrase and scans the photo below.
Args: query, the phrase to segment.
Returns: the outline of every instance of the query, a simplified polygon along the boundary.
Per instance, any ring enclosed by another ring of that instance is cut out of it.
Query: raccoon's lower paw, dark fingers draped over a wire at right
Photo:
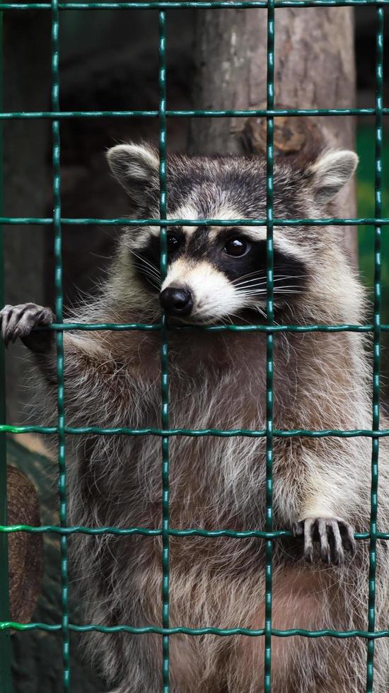
[[[306,518],[293,525],[295,537],[304,537],[304,558],[313,562],[313,542],[319,542],[320,555],[327,564],[342,564],[344,552],[355,553],[354,530],[339,518]]]

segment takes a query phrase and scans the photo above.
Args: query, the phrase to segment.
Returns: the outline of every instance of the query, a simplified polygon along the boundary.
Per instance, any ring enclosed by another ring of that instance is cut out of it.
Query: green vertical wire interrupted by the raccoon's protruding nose
[[[166,219],[166,12],[158,13],[159,18],[159,209],[161,219]],[[161,226],[161,277],[166,277],[168,269],[168,243],[166,226]],[[168,330],[166,315],[161,320],[161,424],[164,430],[169,428],[169,381],[168,381]],[[169,627],[169,438],[162,438],[162,625]],[[163,693],[170,691],[170,656],[169,636],[162,639],[162,680]]]

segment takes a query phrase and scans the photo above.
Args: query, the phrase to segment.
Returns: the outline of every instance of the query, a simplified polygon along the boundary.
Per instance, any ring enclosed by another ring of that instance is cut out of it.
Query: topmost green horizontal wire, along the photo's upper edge
[[[349,6],[381,6],[388,5],[389,0],[275,0],[274,7],[349,7]],[[60,10],[179,10],[186,8],[196,9],[243,9],[243,8],[267,8],[267,0],[231,0],[228,2],[214,0],[202,2],[197,0],[185,0],[181,2],[62,2]],[[4,10],[47,10],[50,4],[45,2],[4,3]]]

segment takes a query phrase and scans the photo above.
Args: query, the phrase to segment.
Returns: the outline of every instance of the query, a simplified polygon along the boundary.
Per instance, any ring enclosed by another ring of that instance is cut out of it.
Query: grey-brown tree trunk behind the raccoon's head
[[[194,55],[196,108],[266,107],[267,12],[262,9],[197,12]],[[275,21],[276,108],[354,107],[352,8],[280,8]],[[196,153],[265,153],[266,119],[194,118],[190,150]],[[281,156],[304,144],[354,148],[355,117],[275,120],[274,149]],[[354,183],[339,196],[339,214],[354,216]],[[344,244],[356,264],[356,227]]]

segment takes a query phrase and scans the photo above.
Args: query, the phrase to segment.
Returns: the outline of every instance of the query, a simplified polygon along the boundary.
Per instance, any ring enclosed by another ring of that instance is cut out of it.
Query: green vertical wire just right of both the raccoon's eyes
[[[267,6],[267,108],[274,108],[274,0]],[[266,141],[266,312],[267,325],[274,325],[274,248],[273,248],[273,173],[274,117],[267,118]],[[273,530],[273,339],[266,336],[266,522]],[[265,549],[265,693],[272,690],[272,540]]]

